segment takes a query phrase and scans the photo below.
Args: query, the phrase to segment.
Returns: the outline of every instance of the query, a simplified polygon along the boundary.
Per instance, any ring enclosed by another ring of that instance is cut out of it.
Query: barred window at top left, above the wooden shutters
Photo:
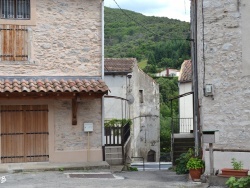
[[[30,0],[1,0],[1,19],[30,19]]]

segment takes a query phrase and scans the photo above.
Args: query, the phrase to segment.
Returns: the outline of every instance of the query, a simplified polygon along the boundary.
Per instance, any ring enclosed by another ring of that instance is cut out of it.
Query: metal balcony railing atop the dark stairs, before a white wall
[[[173,133],[191,133],[193,131],[193,118],[173,118]]]

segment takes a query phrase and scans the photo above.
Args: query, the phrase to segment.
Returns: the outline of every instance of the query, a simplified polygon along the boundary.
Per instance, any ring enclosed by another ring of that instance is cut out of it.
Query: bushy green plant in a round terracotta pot
[[[195,179],[200,179],[202,174],[202,169],[205,167],[205,163],[202,159],[197,157],[192,157],[187,162],[187,168],[189,169],[189,174],[194,181]]]

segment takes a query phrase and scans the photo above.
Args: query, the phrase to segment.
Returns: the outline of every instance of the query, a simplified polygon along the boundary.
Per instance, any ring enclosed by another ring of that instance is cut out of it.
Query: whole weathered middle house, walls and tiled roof
[[[160,156],[159,85],[134,58],[105,58],[105,119],[131,119],[130,157],[158,161]],[[121,100],[125,99],[125,100]]]

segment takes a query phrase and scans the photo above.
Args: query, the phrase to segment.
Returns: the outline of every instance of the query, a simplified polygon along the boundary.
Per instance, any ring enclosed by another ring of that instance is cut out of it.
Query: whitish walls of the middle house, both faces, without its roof
[[[159,117],[159,86],[143,71],[134,66],[132,78],[126,76],[105,75],[109,86],[109,95],[134,99],[127,104],[127,118],[132,120],[131,157],[144,157],[150,150],[156,152],[156,160],[160,156],[160,117]],[[127,86],[127,89],[126,89]],[[140,91],[141,90],[141,91]],[[143,97],[143,102],[140,100]],[[123,106],[125,108],[125,106]],[[105,119],[121,117],[121,101],[105,98]],[[125,109],[124,111],[125,112]],[[125,116],[125,115],[124,115]]]

